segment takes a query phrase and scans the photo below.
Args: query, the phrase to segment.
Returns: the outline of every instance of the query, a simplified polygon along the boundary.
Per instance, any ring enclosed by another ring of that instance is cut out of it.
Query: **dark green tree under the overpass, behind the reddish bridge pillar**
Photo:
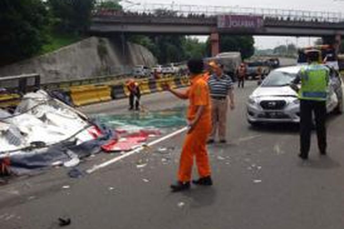
[[[211,55],[210,40],[207,40],[207,53]],[[255,53],[253,36],[232,36],[221,35],[220,36],[220,52],[239,51],[243,59],[251,57]]]

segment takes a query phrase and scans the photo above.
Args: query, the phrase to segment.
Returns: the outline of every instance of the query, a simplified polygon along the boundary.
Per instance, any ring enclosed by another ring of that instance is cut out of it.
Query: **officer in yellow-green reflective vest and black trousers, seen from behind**
[[[300,154],[308,159],[311,143],[312,113],[315,116],[316,135],[320,154],[326,154],[326,96],[329,83],[328,69],[320,65],[320,51],[309,50],[306,53],[308,66],[301,68],[291,87],[298,91],[300,99]],[[297,84],[301,82],[301,88]]]

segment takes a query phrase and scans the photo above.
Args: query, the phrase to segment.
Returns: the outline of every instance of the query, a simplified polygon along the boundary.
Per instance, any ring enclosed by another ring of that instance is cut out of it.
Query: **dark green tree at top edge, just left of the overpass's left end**
[[[59,32],[85,33],[95,0],[48,0]]]

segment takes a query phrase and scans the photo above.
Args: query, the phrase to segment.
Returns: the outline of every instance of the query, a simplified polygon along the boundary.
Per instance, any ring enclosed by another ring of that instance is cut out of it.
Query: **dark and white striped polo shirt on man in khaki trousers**
[[[229,90],[233,89],[233,81],[232,78],[225,74],[222,74],[221,77],[213,74],[208,80],[208,86],[211,97],[225,98]]]

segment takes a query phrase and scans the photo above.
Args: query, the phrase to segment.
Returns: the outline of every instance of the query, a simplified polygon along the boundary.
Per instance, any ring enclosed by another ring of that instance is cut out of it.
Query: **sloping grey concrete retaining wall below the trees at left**
[[[156,64],[145,47],[119,39],[90,37],[53,53],[0,68],[0,77],[39,73],[42,83],[128,72],[132,66]]]

